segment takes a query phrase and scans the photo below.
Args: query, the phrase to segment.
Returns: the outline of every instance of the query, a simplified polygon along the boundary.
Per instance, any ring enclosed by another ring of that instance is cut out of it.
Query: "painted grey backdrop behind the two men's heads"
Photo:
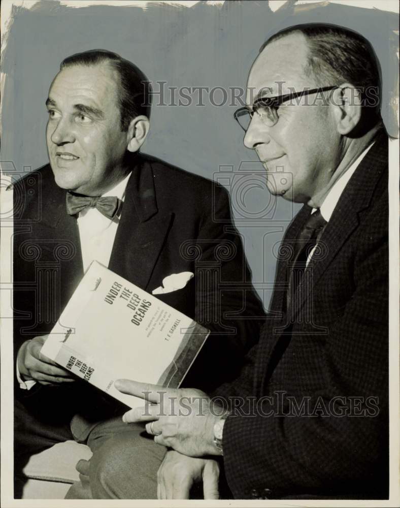
[[[396,14],[339,4],[295,6],[291,1],[273,12],[268,2],[225,2],[222,7],[200,2],[191,8],[153,4],[142,9],[118,2],[71,8],[51,0],[30,10],[13,9],[2,62],[7,74],[3,167],[18,177],[48,162],[45,100],[64,57],[94,48],[121,54],[146,73],[154,91],[161,86],[157,82],[166,82],[163,98],[154,97],[151,134],[143,151],[229,188],[253,281],[268,306],[276,244],[299,206],[266,190],[264,170],[243,146],[243,131],[232,117],[241,104],[232,100],[229,87],[245,87],[251,63],[271,30],[312,21],[343,24],[373,43],[383,70],[383,116],[396,136]],[[199,92],[181,89],[181,95],[175,92],[177,105],[157,105],[171,103],[168,87],[183,86],[214,91],[203,92],[199,101]]]

